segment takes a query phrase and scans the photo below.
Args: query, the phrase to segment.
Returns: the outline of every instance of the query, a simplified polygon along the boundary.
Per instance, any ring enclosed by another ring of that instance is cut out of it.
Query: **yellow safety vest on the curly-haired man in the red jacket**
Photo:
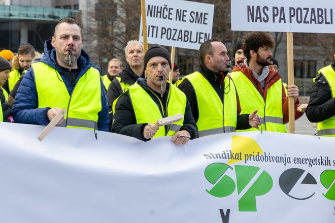
[[[257,88],[241,71],[230,74],[235,83],[236,91],[240,100],[241,114],[250,114],[258,110],[257,114],[262,117],[261,128],[250,128],[242,131],[271,131],[286,133],[286,127],[283,124],[282,108],[282,81],[281,79],[267,89],[266,99]]]

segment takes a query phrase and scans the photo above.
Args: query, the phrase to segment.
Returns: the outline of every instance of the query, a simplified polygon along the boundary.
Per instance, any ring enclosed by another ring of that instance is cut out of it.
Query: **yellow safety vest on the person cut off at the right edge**
[[[331,65],[322,68],[318,74],[324,76],[327,80],[331,97],[335,97],[335,71],[332,69]],[[332,116],[324,121],[318,123],[318,136],[331,136],[335,137],[335,116]]]

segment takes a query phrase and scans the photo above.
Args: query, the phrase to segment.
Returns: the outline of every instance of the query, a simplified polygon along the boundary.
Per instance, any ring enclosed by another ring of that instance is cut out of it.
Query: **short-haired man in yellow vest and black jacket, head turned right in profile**
[[[235,86],[226,78],[229,57],[225,45],[218,39],[207,40],[200,46],[199,56],[199,71],[176,83],[190,102],[199,137],[257,128],[257,111],[237,114]]]

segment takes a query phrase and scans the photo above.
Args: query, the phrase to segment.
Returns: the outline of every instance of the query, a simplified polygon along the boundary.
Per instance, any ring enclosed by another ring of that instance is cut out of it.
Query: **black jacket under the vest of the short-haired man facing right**
[[[203,62],[200,63],[200,68],[199,68],[199,73],[201,73],[212,85],[213,89],[217,92],[219,95],[221,102],[223,102],[223,97],[224,97],[224,77],[227,75],[228,72],[225,73],[219,73],[219,72],[214,72],[210,69],[208,69]],[[178,85],[178,88],[182,90],[190,102],[192,114],[194,117],[195,121],[198,121],[199,118],[199,111],[198,111],[198,105],[196,101],[196,95],[195,91],[193,89],[192,84],[189,82],[189,80],[185,79],[183,82],[181,82]],[[236,108],[236,113],[238,113],[238,110]],[[237,130],[245,130],[245,129],[250,129],[251,126],[249,125],[249,114],[242,114],[237,116]]]

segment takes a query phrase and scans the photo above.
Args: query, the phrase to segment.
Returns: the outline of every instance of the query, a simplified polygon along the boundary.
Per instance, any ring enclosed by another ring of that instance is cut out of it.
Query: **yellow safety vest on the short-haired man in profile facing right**
[[[196,95],[199,118],[196,122],[199,137],[219,133],[235,132],[237,124],[237,101],[235,86],[229,78],[224,79],[222,88],[224,94],[223,105],[217,92],[209,81],[199,72],[194,72],[183,79],[189,80]],[[183,79],[178,82],[179,85]],[[223,125],[224,123],[224,125]]]

